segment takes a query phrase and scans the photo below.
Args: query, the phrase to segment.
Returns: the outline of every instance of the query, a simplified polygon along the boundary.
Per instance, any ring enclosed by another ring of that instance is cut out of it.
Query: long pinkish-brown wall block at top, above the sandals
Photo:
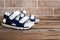
[[[6,0],[5,3],[6,7],[37,7],[36,0]]]

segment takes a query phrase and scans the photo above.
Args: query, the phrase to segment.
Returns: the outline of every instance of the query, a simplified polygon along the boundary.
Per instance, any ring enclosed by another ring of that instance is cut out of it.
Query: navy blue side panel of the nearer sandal
[[[24,27],[25,23],[21,24],[15,18],[13,20],[10,20],[9,16],[7,16],[7,15],[4,15],[4,18],[6,19],[6,23],[5,24],[12,25],[12,23],[15,23],[16,27]]]

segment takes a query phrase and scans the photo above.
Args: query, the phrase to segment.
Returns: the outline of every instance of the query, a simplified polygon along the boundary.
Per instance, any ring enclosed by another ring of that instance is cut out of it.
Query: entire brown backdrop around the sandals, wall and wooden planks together
[[[27,10],[40,22],[29,30],[1,25],[4,12]],[[0,0],[0,40],[60,40],[60,0]]]

